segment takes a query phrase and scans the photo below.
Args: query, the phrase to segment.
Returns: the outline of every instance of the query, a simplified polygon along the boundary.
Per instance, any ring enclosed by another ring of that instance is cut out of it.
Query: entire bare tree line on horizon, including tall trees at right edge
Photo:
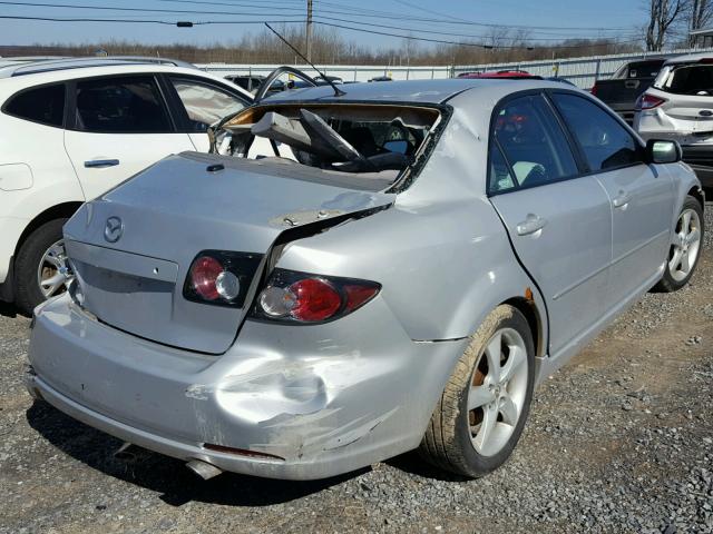
[[[527,30],[492,27],[482,38],[462,43],[424,43],[401,39],[397,44],[377,47],[345,39],[338,29],[316,27],[313,31],[312,59],[319,65],[430,66],[479,65],[572,57],[629,53],[666,48],[693,48],[702,42],[691,31],[713,23],[713,0],[639,0],[646,22],[633,34],[641,39],[566,39],[544,46]],[[305,30],[283,26],[280,31],[299,49],[305,50]],[[412,33],[410,37],[422,37]],[[448,39],[445,39],[448,40]],[[534,44],[535,43],[535,44]],[[0,56],[92,56],[105,51],[113,56],[155,56],[193,63],[303,63],[295,53],[267,30],[244,34],[232,42],[212,44],[144,44],[125,40],[82,44],[0,46]]]

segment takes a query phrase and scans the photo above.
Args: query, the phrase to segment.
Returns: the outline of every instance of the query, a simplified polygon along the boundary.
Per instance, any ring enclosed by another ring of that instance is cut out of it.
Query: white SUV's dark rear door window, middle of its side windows
[[[77,128],[100,134],[173,131],[153,77],[77,82]]]

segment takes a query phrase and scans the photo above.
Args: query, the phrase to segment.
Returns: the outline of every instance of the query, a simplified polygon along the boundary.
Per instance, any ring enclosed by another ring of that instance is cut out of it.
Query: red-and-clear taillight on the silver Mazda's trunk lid
[[[184,284],[187,300],[241,307],[262,255],[204,250],[192,261]]]

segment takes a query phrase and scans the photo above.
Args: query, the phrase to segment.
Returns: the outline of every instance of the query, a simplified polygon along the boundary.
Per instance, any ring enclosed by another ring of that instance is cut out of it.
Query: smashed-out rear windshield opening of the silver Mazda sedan
[[[393,182],[418,159],[439,118],[437,109],[419,107],[265,106],[223,125],[212,151]]]

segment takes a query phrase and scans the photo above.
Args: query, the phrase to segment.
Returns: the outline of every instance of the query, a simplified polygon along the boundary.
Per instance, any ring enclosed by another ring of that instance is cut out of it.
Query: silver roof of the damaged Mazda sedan
[[[463,91],[480,90],[492,95],[505,96],[510,92],[527,89],[550,88],[561,89],[563,83],[545,81],[536,78],[509,80],[502,78],[450,78],[441,80],[409,80],[392,81],[390,83],[350,83],[340,86],[346,93],[335,97],[330,86],[309,87],[279,92],[265,98],[265,103],[283,102],[410,102],[410,103],[442,103]]]

